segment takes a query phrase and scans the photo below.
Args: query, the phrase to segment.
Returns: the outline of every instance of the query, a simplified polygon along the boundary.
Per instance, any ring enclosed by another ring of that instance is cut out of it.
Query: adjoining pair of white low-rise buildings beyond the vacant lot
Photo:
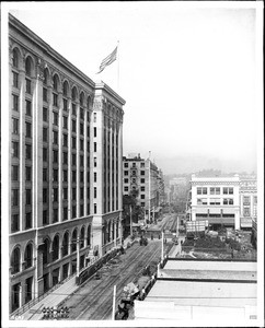
[[[214,230],[252,229],[257,218],[255,176],[192,176],[187,209],[192,221],[207,221]]]

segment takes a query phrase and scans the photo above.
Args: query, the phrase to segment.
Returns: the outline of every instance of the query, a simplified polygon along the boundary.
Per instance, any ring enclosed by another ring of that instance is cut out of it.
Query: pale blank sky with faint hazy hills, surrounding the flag
[[[151,151],[165,174],[255,171],[255,9],[185,4],[9,5],[55,50],[126,101],[124,155]],[[117,40],[118,60],[95,74]]]

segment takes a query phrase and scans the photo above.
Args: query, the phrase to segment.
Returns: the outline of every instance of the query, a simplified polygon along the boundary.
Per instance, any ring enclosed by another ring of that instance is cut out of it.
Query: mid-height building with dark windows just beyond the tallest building
[[[152,221],[163,201],[162,172],[150,159],[140,154],[124,156],[124,195],[135,195],[137,203],[145,208],[146,219]]]

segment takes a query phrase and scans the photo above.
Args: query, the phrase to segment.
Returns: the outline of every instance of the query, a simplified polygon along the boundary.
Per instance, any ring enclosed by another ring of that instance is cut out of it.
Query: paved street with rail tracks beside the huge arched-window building
[[[70,307],[69,319],[110,320],[113,308],[113,290],[116,285],[116,308],[123,288],[136,281],[142,269],[158,261],[161,256],[161,241],[149,241],[147,246],[136,243],[120,255],[116,263],[101,269],[102,278],[92,278],[73,295],[66,300],[62,306]]]

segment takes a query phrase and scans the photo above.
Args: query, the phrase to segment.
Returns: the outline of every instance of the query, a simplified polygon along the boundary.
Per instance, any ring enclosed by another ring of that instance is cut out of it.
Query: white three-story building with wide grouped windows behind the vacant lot
[[[240,229],[240,178],[192,176],[192,221]]]

